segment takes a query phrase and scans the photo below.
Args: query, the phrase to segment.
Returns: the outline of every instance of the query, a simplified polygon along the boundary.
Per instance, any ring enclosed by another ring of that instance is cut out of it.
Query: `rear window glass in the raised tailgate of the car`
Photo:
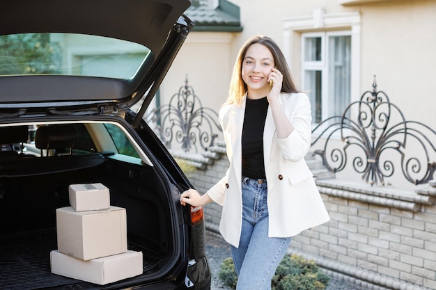
[[[148,47],[96,35],[0,35],[0,76],[64,74],[131,79],[148,57],[152,57]]]

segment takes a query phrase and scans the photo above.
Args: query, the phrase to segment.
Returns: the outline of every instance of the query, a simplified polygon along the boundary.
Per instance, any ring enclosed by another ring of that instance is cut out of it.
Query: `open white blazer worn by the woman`
[[[207,194],[223,206],[219,231],[224,239],[239,246],[242,227],[242,125],[245,100],[241,106],[226,105],[219,111],[219,122],[230,166],[226,175]],[[311,104],[306,94],[281,94],[283,111],[294,131],[279,139],[268,108],[263,133],[265,173],[267,177],[267,206],[270,237],[290,237],[304,229],[327,222],[329,214],[304,160],[311,146]]]

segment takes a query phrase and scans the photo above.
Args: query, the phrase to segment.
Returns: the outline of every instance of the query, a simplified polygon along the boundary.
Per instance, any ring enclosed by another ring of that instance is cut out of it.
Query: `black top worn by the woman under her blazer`
[[[268,100],[249,99],[245,106],[242,127],[242,176],[266,179],[263,162],[263,129],[267,118]]]

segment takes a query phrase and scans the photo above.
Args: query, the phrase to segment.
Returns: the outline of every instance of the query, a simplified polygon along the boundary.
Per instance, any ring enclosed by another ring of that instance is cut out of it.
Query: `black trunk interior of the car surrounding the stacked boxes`
[[[98,153],[5,160],[0,161],[0,289],[107,288],[50,271],[50,252],[57,248],[55,210],[70,205],[70,184],[88,183],[107,186],[111,205],[126,209],[127,248],[143,252],[143,277],[155,277],[173,261],[171,194],[154,167]]]

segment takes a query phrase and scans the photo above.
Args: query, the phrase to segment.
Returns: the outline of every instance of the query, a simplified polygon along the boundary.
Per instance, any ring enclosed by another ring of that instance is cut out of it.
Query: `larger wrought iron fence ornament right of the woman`
[[[436,159],[431,161],[430,154],[436,152],[436,131],[421,122],[406,120],[387,94],[377,91],[375,76],[372,91],[364,92],[341,116],[322,121],[312,133],[316,139],[311,145],[325,142],[313,154],[320,156],[332,172],[344,170],[348,158],[352,158],[352,168],[370,184],[384,185],[384,179],[394,175],[397,164],[413,184],[425,184],[434,178]],[[406,143],[412,152],[406,150]],[[399,160],[395,161],[395,156]]]

